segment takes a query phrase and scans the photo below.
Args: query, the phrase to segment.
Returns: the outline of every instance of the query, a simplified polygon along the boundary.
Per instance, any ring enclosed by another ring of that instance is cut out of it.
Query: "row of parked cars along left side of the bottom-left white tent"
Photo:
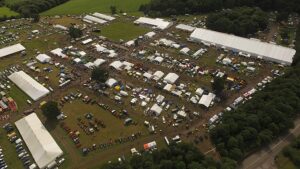
[[[24,168],[28,168],[28,169],[37,168],[36,164],[31,161],[31,157],[30,157],[29,153],[27,152],[25,145],[23,144],[23,140],[20,137],[18,137],[16,132],[14,131],[13,125],[10,123],[6,123],[3,126],[3,129],[7,132],[7,137],[9,139],[9,141],[12,144],[15,144],[17,156],[22,161]],[[0,169],[2,169],[2,168],[0,168]]]

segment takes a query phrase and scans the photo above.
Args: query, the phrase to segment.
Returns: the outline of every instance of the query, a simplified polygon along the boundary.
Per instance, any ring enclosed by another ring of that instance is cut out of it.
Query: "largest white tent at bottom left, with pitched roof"
[[[16,121],[15,124],[39,168],[46,168],[63,154],[35,113]]]

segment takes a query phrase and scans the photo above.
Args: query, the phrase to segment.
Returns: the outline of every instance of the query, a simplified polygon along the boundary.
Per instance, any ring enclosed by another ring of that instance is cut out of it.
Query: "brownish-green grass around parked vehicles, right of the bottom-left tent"
[[[85,104],[81,100],[65,104],[62,111],[68,116],[65,120],[66,125],[72,130],[80,131],[80,142],[83,146],[91,146],[93,143],[107,143],[110,139],[127,137],[133,133],[145,130],[142,123],[137,126],[124,126],[124,120],[117,119],[111,115],[110,112],[104,111],[96,104]],[[81,118],[87,122],[88,120],[84,117],[86,113],[92,113],[95,118],[103,121],[106,128],[101,128],[99,132],[96,132],[93,135],[85,134],[84,131],[77,125],[77,119]]]

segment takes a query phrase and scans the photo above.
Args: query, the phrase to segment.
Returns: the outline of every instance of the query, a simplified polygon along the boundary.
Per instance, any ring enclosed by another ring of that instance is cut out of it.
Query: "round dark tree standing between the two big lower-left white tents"
[[[56,119],[56,117],[61,113],[61,111],[58,108],[58,104],[55,101],[48,101],[41,107],[41,109],[43,114],[49,120]]]

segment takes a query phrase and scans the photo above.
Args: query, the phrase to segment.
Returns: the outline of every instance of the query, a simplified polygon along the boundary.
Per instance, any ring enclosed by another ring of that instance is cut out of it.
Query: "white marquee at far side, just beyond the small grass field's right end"
[[[144,24],[144,25],[150,25],[153,26],[155,29],[167,29],[170,26],[172,26],[172,22],[165,21],[164,19],[160,18],[147,18],[147,17],[140,17],[136,21],[134,21],[135,24]]]

